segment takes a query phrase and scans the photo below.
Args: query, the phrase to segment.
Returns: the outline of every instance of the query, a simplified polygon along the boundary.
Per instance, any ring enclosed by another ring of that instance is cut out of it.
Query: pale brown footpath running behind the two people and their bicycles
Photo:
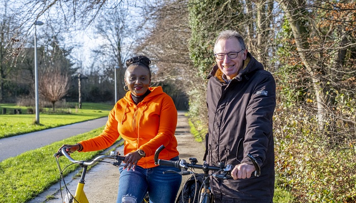
[[[196,157],[198,159],[198,163],[202,164],[201,160],[204,154],[204,145],[203,143],[198,143],[194,140],[192,134],[190,133],[188,118],[184,114],[185,112],[178,112],[178,123],[175,130],[175,137],[178,142],[177,149],[180,152],[180,158],[189,162],[189,157]],[[116,148],[115,151],[123,153],[123,148]],[[62,168],[63,167],[64,166],[62,166]],[[73,194],[75,193],[75,188],[80,178],[75,176],[75,174],[76,172],[66,178],[67,187]],[[116,202],[119,177],[120,174],[118,173],[118,168],[111,164],[99,163],[92,167],[91,170],[86,173],[84,187],[84,191],[89,202]],[[188,178],[189,176],[183,177],[181,187]],[[29,203],[62,202],[59,188],[60,185],[57,183],[47,191],[34,198],[32,201],[29,201]],[[65,196],[65,192],[62,192]],[[52,196],[52,198],[50,200],[46,200],[46,197],[48,196]]]

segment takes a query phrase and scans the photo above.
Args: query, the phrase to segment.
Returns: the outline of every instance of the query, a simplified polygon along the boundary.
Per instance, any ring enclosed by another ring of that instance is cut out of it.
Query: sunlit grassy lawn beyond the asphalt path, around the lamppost
[[[14,104],[0,104],[0,108],[6,108],[7,113],[13,113],[14,109],[21,109],[23,114],[0,115],[0,139],[18,134],[34,132],[52,127],[77,123],[108,116],[113,105],[83,103],[82,109],[63,109],[60,114],[40,113],[40,125],[34,124],[35,114],[24,114],[27,107],[18,107]],[[50,112],[47,109],[46,112]]]

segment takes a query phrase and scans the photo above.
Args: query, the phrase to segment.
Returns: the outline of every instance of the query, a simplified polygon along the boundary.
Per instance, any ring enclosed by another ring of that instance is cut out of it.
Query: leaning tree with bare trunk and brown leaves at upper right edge
[[[312,93],[309,99],[315,105],[319,129],[333,136],[338,131],[337,118],[348,122],[338,112],[339,105],[345,105],[339,96],[355,95],[354,85],[350,89],[347,81],[352,84],[356,78],[356,4],[279,2],[292,33],[293,56],[301,61],[300,75],[310,81],[303,86]]]

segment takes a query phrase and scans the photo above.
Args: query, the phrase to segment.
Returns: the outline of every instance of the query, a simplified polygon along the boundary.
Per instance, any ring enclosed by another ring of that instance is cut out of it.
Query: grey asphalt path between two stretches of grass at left
[[[107,117],[102,117],[0,139],[0,161],[102,127],[106,121]]]

